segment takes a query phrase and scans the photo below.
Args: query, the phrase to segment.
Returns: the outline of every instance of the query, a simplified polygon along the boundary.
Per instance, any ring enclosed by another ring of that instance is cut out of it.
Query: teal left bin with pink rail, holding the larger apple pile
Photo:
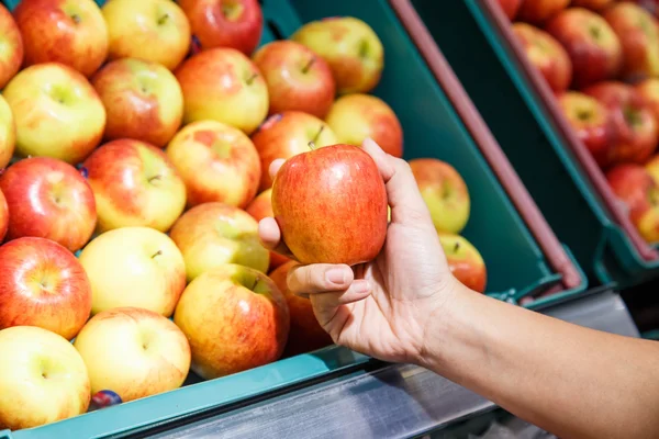
[[[472,207],[463,235],[485,260],[488,294],[515,303],[536,297],[526,306],[540,307],[585,290],[585,275],[570,250],[552,234],[407,1],[263,0],[261,4],[266,18],[261,44],[332,15],[360,18],[378,33],[386,67],[373,94],[400,117],[406,159],[446,160],[467,182]],[[212,381],[190,376],[172,392],[38,428],[0,432],[0,438],[119,437],[165,429],[168,421],[222,413],[250,398],[362,368],[369,360],[328,347]]]

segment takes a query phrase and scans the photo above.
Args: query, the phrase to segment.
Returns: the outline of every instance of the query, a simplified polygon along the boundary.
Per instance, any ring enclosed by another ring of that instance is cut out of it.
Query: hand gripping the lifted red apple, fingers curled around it
[[[288,285],[310,297],[319,323],[337,345],[384,361],[417,362],[427,323],[458,282],[407,162],[371,139],[362,148],[380,169],[391,207],[382,251],[355,267],[298,264],[289,271]],[[272,176],[282,162],[272,162]],[[259,234],[267,248],[292,257],[273,218],[261,219]]]

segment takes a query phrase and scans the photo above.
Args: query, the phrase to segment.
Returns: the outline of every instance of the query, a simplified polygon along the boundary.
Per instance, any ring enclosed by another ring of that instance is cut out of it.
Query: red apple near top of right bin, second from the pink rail
[[[623,46],[608,23],[595,12],[583,8],[566,9],[549,20],[545,31],[570,56],[572,86],[576,89],[613,79],[619,72]]]

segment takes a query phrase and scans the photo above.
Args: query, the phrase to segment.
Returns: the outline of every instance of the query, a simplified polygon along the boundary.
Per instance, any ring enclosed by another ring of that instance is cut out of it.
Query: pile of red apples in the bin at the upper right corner
[[[659,241],[657,2],[499,1],[639,234]]]

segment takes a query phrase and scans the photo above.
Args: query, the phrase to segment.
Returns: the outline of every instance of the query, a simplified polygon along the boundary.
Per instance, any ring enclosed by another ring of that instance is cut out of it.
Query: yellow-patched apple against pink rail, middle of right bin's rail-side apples
[[[560,94],[558,104],[577,137],[592,154],[597,165],[608,166],[614,146],[614,126],[608,110],[595,98],[579,91]]]

